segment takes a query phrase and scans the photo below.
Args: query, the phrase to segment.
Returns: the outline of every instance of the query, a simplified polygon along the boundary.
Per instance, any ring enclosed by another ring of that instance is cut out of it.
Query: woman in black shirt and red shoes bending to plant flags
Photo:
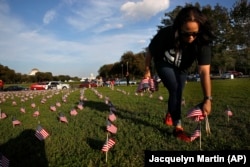
[[[177,14],[173,25],[160,29],[151,40],[145,58],[144,77],[151,77],[150,63],[169,92],[165,124],[173,125],[173,135],[190,141],[181,124],[181,102],[187,71],[197,61],[203,92],[202,111],[211,112],[211,43],[214,39],[207,17],[194,6],[184,7]]]

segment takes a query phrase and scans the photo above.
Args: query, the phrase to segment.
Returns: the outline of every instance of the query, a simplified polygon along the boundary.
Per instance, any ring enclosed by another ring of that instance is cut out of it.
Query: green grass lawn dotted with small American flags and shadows
[[[202,122],[202,150],[243,150],[250,149],[250,89],[249,79],[213,80],[213,108],[209,116],[211,136],[206,136],[205,122]],[[96,90],[96,91],[94,91]],[[111,90],[108,87],[87,89],[84,96],[87,101],[84,109],[78,115],[70,116],[69,112],[75,107],[80,98],[80,89],[70,91],[33,91],[28,100],[20,102],[24,93],[5,94],[5,102],[0,104],[2,112],[8,118],[0,120],[0,151],[10,159],[12,166],[51,166],[51,167],[96,167],[96,166],[121,166],[139,167],[144,164],[144,150],[199,150],[199,140],[184,143],[172,136],[172,128],[163,124],[166,111],[168,93],[160,85],[160,90],[150,98],[135,95],[135,86],[119,86]],[[28,92],[26,92],[28,93]],[[97,93],[103,95],[99,98]],[[6,94],[9,94],[8,97]],[[56,112],[51,112],[49,106],[57,101],[61,102],[63,95],[68,95],[67,102],[57,107]],[[117,134],[113,135],[116,144],[108,152],[108,162],[101,148],[106,140],[106,118],[109,107],[105,104],[104,97],[110,98],[117,109]],[[164,100],[160,101],[159,96]],[[183,126],[188,133],[192,133],[197,126],[186,118],[187,111],[201,102],[199,82],[188,82],[183,96],[186,106],[183,106]],[[33,98],[31,98],[33,97]],[[45,104],[40,100],[46,97]],[[12,101],[17,106],[12,105]],[[1,100],[2,101],[2,100]],[[31,108],[35,102],[37,107]],[[233,112],[229,122],[225,109],[229,105]],[[26,113],[20,112],[20,107],[26,108]],[[32,117],[37,110],[41,115]],[[59,123],[57,116],[63,112],[69,123]],[[11,117],[15,116],[22,122],[21,126],[12,127]],[[44,141],[39,141],[35,136],[38,123],[49,131],[50,136]],[[19,165],[16,165],[18,164]]]

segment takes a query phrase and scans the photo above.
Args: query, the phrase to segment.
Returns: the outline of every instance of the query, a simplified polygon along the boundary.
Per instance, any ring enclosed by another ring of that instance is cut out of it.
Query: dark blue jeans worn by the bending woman
[[[173,125],[181,125],[182,92],[185,87],[187,74],[181,73],[178,68],[164,61],[155,62],[155,69],[169,92],[167,112],[171,114]]]

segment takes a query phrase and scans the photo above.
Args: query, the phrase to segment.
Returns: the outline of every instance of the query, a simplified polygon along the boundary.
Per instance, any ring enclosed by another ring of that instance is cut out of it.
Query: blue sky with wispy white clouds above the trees
[[[98,75],[105,64],[139,53],[164,13],[176,6],[236,0],[0,0],[0,64],[28,74]]]

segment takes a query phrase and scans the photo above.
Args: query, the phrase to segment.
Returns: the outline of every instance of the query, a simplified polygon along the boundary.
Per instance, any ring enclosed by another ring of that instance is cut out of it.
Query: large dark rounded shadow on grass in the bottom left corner
[[[0,152],[8,158],[11,167],[48,167],[44,141],[38,140],[32,129],[1,144]]]

